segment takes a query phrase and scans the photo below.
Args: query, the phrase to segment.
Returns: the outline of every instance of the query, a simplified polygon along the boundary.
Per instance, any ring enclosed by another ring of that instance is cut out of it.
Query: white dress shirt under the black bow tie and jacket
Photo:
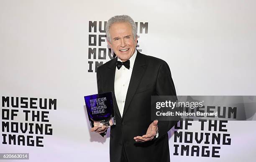
[[[123,117],[123,109],[125,105],[126,94],[128,91],[128,86],[130,83],[131,74],[133,72],[133,65],[134,65],[136,56],[137,56],[137,50],[135,50],[133,56],[131,56],[131,58],[129,59],[130,69],[125,68],[125,66],[122,66],[119,70],[117,67],[115,69],[115,99],[118,104],[118,109],[122,117]],[[121,60],[118,58],[118,61],[121,61]]]

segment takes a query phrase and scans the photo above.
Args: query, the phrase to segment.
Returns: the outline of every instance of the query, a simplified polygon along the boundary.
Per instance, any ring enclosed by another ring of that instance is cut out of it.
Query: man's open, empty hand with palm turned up
[[[154,139],[154,136],[156,135],[156,131],[158,131],[157,123],[158,123],[158,120],[155,120],[149,125],[146,134],[144,134],[143,136],[134,137],[133,139],[136,142],[146,142]]]

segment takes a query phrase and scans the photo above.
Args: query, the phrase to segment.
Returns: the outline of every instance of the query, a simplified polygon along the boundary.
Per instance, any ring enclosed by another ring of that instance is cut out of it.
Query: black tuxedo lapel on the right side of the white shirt
[[[133,65],[133,72],[131,75],[130,83],[128,86],[128,91],[126,94],[125,99],[125,106],[123,109],[123,117],[125,116],[125,113],[127,112],[129,105],[131,103],[131,100],[133,99],[133,96],[138,88],[138,85],[141,83],[141,78],[146,70],[146,62],[142,56],[141,53],[137,53],[134,65]]]

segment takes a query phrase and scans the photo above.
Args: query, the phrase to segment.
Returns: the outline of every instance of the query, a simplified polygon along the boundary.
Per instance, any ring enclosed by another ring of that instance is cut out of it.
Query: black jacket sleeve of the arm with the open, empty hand
[[[168,95],[175,96],[175,98],[177,98],[171,71],[168,64],[165,61],[163,61],[163,63],[161,63],[161,66],[159,67],[156,81],[156,93],[159,96]],[[177,122],[177,120],[159,121],[159,138],[165,135]]]

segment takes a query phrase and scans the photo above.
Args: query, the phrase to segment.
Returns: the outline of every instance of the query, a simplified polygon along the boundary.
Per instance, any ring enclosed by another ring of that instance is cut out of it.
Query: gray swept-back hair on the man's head
[[[109,30],[110,30],[110,27],[114,23],[129,23],[131,25],[131,27],[132,27],[132,33],[133,33],[134,40],[136,39],[136,37],[138,37],[138,35],[137,35],[137,27],[136,27],[136,24],[133,21],[133,19],[130,16],[128,16],[128,15],[116,15],[116,16],[110,18],[108,20],[107,25],[106,25],[106,35],[107,35],[107,39],[108,39],[108,41],[110,41],[110,43],[111,43],[111,37],[110,37]]]

